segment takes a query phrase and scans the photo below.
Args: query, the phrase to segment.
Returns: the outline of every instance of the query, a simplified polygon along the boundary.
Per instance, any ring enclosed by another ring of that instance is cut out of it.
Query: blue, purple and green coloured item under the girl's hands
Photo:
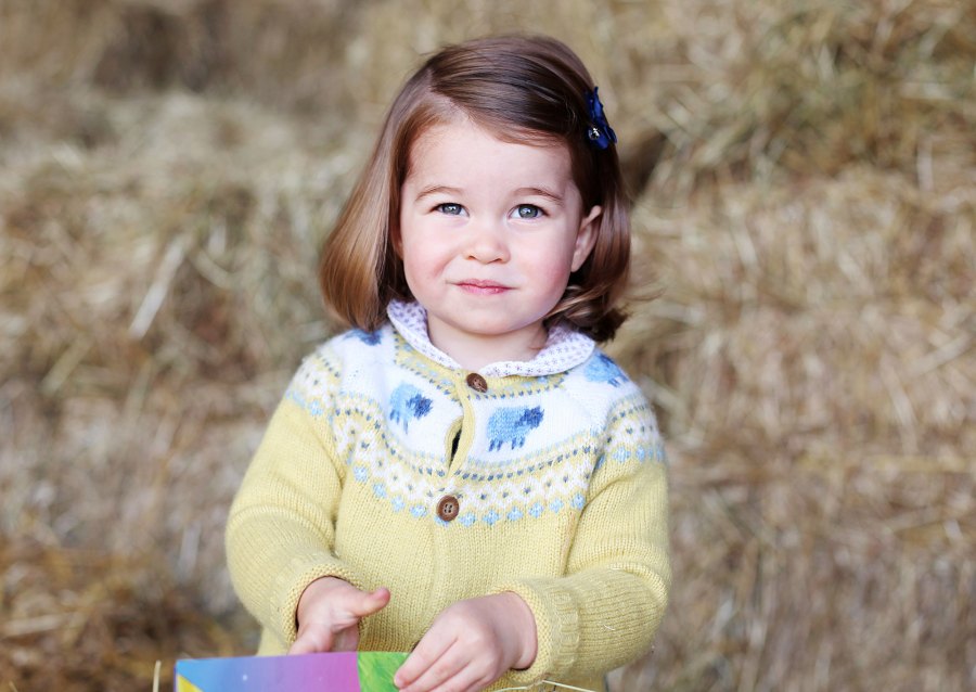
[[[396,692],[403,653],[342,652],[178,661],[175,692]]]

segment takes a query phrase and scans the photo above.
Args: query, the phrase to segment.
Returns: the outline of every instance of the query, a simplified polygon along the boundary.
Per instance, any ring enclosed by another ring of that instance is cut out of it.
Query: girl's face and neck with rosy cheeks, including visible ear
[[[470,370],[530,360],[542,319],[593,248],[563,144],[516,144],[465,117],[414,142],[396,247],[435,346]]]

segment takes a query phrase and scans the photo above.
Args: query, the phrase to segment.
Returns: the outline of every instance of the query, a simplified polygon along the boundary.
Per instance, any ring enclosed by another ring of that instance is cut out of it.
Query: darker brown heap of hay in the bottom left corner
[[[215,621],[147,558],[31,541],[0,546],[4,687],[146,689],[154,658],[240,653],[231,623]]]

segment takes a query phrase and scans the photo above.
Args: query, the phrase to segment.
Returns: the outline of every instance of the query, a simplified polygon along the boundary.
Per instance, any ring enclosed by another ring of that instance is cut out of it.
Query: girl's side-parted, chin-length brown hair
[[[326,239],[319,281],[326,305],[367,331],[386,321],[394,298],[411,299],[394,248],[400,187],[410,148],[431,126],[460,110],[496,137],[564,143],[583,212],[601,205],[596,242],[548,316],[596,341],[613,337],[625,315],[616,307],[627,283],[630,217],[614,144],[600,150],[586,94],[593,80],[577,55],[551,38],[501,36],[438,52],[408,80],[390,106],[376,148]]]

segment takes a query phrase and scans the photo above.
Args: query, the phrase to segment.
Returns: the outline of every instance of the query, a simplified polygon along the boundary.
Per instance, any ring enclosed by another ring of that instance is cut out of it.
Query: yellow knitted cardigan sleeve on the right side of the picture
[[[586,678],[651,645],[671,582],[664,451],[645,401],[611,415],[603,457],[569,550],[566,576],[499,585],[536,617],[538,653],[513,681]]]

